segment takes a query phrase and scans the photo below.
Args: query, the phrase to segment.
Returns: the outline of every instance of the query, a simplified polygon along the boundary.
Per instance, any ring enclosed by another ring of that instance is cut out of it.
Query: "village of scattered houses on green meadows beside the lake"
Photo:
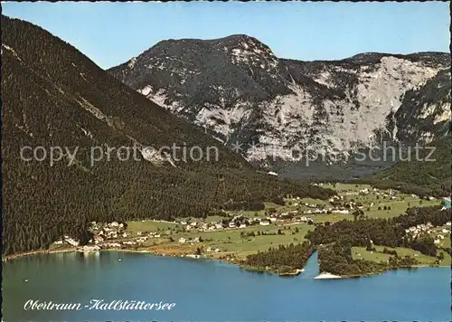
[[[328,187],[336,187],[337,191],[328,201],[288,195],[284,206],[266,204],[266,209],[260,212],[222,211],[207,218],[187,217],[174,222],[93,222],[90,223],[92,238],[87,245],[81,246],[71,236],[63,236],[53,247],[71,247],[83,252],[125,250],[188,257],[243,257],[266,251],[272,245],[302,241],[306,232],[314,230],[316,224],[390,218],[404,213],[410,206],[442,204],[443,210],[450,208],[450,199],[447,198],[419,198],[415,194],[400,194],[396,190],[381,190],[368,185]],[[443,227],[427,223],[410,227],[406,233],[415,238],[427,232],[438,247],[450,247],[450,229],[450,222]]]

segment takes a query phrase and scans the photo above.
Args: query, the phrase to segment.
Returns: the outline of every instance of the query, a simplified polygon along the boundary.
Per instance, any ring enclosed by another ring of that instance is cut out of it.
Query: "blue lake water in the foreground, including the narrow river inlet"
[[[118,260],[121,259],[121,260]],[[448,268],[313,279],[316,255],[295,278],[216,260],[101,251],[40,254],[3,264],[5,321],[450,321]],[[27,281],[25,281],[27,279]],[[171,310],[24,310],[29,299],[175,303]]]

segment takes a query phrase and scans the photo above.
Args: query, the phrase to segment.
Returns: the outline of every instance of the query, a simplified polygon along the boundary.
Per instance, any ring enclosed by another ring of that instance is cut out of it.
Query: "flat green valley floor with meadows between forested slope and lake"
[[[127,227],[115,232],[117,228],[103,228],[102,233],[109,232],[114,237],[97,242],[96,245],[85,248],[89,250],[123,250],[151,252],[164,256],[189,256],[226,260],[240,263],[247,256],[257,252],[268,251],[268,248],[278,248],[279,245],[297,244],[306,241],[306,233],[314,231],[315,223],[335,223],[341,220],[354,220],[352,212],[345,212],[342,205],[360,204],[367,218],[389,218],[404,213],[410,206],[424,206],[439,204],[436,199],[421,200],[417,196],[399,194],[393,191],[373,189],[369,185],[324,185],[333,188],[338,193],[339,204],[332,206],[332,201],[313,199],[287,198],[285,205],[266,204],[266,209],[259,212],[229,212],[221,216],[211,216],[205,219],[181,218],[176,222],[155,220],[128,222]],[[338,200],[334,200],[338,202]],[[325,210],[329,209],[327,213]],[[322,213],[320,212],[322,211]],[[342,212],[342,213],[340,213]],[[269,214],[271,213],[271,214]],[[250,225],[235,226],[233,219]],[[270,220],[271,219],[271,220]],[[223,221],[226,228],[214,228]],[[266,222],[268,220],[268,222]],[[261,221],[262,223],[259,223]],[[116,225],[115,225],[116,227]],[[210,227],[210,228],[208,228]],[[99,233],[100,227],[98,227]],[[444,233],[446,232],[447,233]],[[113,233],[112,233],[113,232]],[[437,227],[435,232],[442,233],[438,250],[450,248],[450,226]],[[32,251],[24,254],[8,256],[11,259],[21,255],[40,252],[75,251],[80,247],[68,244],[52,244],[49,250]],[[390,255],[383,253],[384,247],[376,246],[375,251],[366,251],[362,247],[353,247],[353,259],[387,262]],[[418,266],[436,265],[437,258],[426,256],[419,251],[407,248],[397,251],[400,256],[412,256],[418,260]],[[439,251],[444,255],[439,266],[450,266],[451,258],[447,251]],[[252,268],[249,268],[252,269]],[[298,268],[301,270],[302,268]],[[294,271],[296,273],[297,271]],[[323,278],[322,276],[319,278]]]

